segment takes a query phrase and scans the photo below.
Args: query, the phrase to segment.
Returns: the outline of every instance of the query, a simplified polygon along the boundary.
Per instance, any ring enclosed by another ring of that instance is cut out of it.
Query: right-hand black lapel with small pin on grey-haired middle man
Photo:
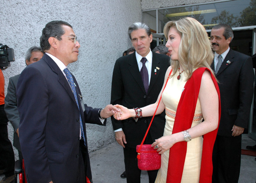
[[[151,78],[150,78],[150,82],[149,82],[149,91],[153,88],[156,79],[159,76],[161,67],[159,64],[159,59],[156,57],[155,53],[152,53],[152,69],[151,69]],[[148,93],[149,93],[148,91]]]

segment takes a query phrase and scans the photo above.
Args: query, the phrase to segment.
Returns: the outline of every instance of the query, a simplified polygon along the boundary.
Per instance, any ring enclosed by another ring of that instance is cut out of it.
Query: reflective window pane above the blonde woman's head
[[[178,20],[183,17],[197,19],[206,29],[211,29],[219,23],[229,24],[233,28],[256,25],[255,12],[256,0],[231,0],[219,3],[159,9],[159,33],[163,32],[166,22]],[[143,20],[145,13],[143,12]]]

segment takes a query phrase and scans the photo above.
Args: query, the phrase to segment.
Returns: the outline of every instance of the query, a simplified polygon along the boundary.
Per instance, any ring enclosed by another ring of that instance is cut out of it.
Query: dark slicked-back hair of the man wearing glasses
[[[69,23],[61,20],[55,20],[45,25],[45,28],[42,30],[42,36],[40,38],[40,46],[42,47],[43,51],[50,49],[51,45],[48,41],[50,37],[56,37],[58,40],[62,40],[61,36],[65,34],[62,25],[68,25],[72,28]]]

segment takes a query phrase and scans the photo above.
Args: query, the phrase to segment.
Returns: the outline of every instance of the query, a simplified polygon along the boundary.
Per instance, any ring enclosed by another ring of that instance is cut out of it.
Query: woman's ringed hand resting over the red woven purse
[[[154,149],[157,149],[156,151],[159,152],[159,154],[163,154],[165,151],[170,149],[175,144],[175,139],[173,138],[173,135],[170,136],[162,136],[161,138],[157,139],[156,142],[152,143],[152,147]]]

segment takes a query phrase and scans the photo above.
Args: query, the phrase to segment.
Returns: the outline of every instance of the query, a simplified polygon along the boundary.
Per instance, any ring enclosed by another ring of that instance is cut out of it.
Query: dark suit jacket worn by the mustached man
[[[214,70],[214,63],[211,67]],[[219,81],[221,102],[218,135],[232,136],[233,125],[248,127],[253,100],[252,58],[230,49],[216,78]]]

